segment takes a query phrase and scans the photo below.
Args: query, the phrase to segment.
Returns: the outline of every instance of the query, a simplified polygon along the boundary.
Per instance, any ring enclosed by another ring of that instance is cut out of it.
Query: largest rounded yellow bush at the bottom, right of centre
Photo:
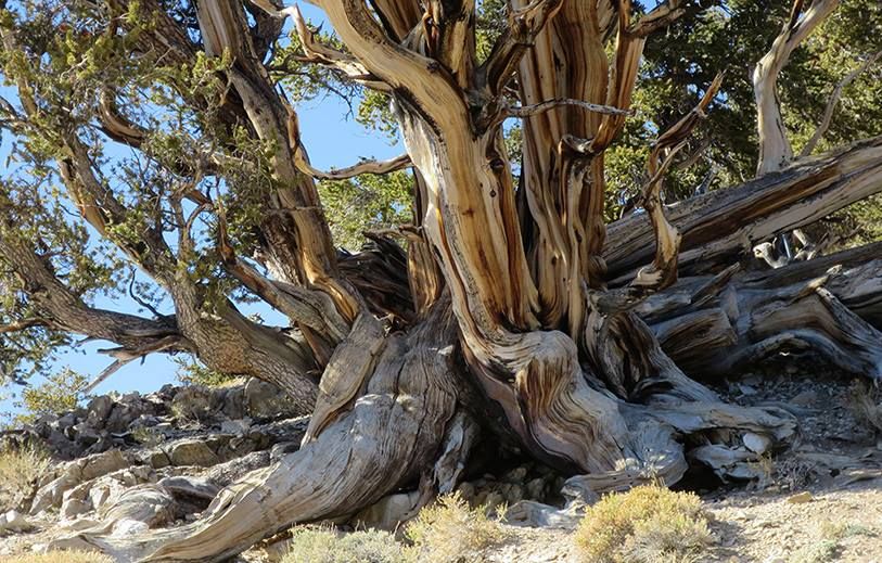
[[[589,508],[575,540],[586,562],[667,563],[698,561],[713,536],[699,497],[642,486]]]

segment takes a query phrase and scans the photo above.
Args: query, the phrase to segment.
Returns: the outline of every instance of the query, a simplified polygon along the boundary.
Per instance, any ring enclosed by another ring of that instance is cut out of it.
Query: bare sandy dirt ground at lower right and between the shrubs
[[[716,389],[741,405],[790,410],[800,419],[801,437],[758,463],[758,483],[686,479],[685,488],[701,496],[716,540],[698,561],[882,563],[882,442],[849,407],[853,378],[778,362]],[[509,539],[486,561],[579,561],[572,529],[506,527]],[[0,561],[47,533],[0,539]],[[267,558],[253,551],[239,561]]]

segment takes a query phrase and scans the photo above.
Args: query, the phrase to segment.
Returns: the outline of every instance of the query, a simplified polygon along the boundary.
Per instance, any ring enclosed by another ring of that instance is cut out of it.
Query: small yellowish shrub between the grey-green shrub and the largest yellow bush
[[[483,508],[469,508],[459,492],[422,509],[405,535],[413,542],[413,554],[421,563],[484,561],[482,552],[506,539],[499,522],[488,517]]]

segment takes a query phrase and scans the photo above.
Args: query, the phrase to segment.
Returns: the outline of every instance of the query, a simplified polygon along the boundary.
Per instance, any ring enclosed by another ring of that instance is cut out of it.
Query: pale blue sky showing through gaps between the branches
[[[324,22],[321,11],[301,3],[304,15],[315,22]],[[324,23],[324,28],[329,29],[330,24]],[[0,86],[0,95],[8,100],[14,100],[14,89]],[[382,133],[366,130],[351,118],[347,119],[347,106],[337,98],[330,95],[325,99],[315,100],[299,104],[297,113],[301,123],[301,133],[306,144],[309,157],[314,166],[328,169],[331,167],[343,167],[355,163],[359,157],[389,158],[402,152],[400,143],[389,144]],[[12,142],[8,135],[0,138],[0,163],[5,163]],[[4,166],[4,164],[0,165]],[[137,306],[129,299],[112,300],[110,298],[99,298],[95,300],[97,307],[120,310],[125,312],[140,314]],[[259,312],[267,322],[283,323],[283,318],[263,305],[243,306],[246,314]],[[77,348],[62,355],[55,362],[54,368],[61,369],[71,367],[72,369],[94,376],[104,368],[110,366],[112,358],[99,354],[101,348],[113,347],[113,344],[102,341],[86,343]],[[107,381],[99,385],[94,393],[105,394],[111,391],[142,393],[159,388],[166,383],[174,383],[176,379],[177,366],[171,359],[164,355],[150,355],[143,364],[133,361]],[[34,378],[31,384],[39,384],[42,378]],[[3,389],[5,397],[0,399],[0,413],[14,411],[14,402],[21,387],[11,385]]]

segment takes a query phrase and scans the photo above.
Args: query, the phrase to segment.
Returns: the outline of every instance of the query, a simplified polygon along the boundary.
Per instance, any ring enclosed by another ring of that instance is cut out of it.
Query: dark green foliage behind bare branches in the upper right
[[[707,119],[696,128],[680,162],[701,155],[691,167],[677,165],[665,181],[668,203],[692,195],[708,178],[712,189],[752,178],[758,141],[751,74],[789,15],[789,2],[713,0],[691,3],[687,14],[650,36],[624,135],[606,153],[610,185],[608,217],[634,196],[644,181],[647,146],[660,131],[691,110],[718,72],[726,72]],[[794,51],[778,82],[784,121],[798,153],[823,115],[836,84],[861,57],[882,50],[882,4],[844,0],[814,35]],[[882,133],[882,91],[875,87],[882,64],[843,91],[830,130],[816,151]],[[868,202],[845,214],[845,222],[878,238],[877,209]],[[846,227],[843,227],[845,229]]]

